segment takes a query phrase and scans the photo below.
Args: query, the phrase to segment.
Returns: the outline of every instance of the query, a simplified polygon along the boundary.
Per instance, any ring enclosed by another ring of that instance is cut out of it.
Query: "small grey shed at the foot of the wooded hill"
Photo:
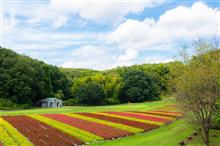
[[[38,101],[37,105],[40,107],[51,107],[51,108],[63,107],[63,101],[58,98],[48,97]]]

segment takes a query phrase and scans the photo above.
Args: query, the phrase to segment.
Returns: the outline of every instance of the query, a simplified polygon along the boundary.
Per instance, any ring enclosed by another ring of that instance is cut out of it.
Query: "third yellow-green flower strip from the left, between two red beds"
[[[117,129],[129,131],[132,133],[139,133],[139,132],[144,131],[143,129],[139,129],[139,128],[135,128],[135,127],[131,127],[131,126],[126,126],[126,125],[122,125],[122,124],[118,124],[118,123],[108,122],[108,121],[100,120],[100,119],[96,119],[96,118],[86,117],[86,116],[82,116],[82,115],[78,115],[78,114],[65,114],[65,115],[70,116],[70,117],[74,117],[74,118],[79,118],[79,119],[91,121],[91,122],[95,122],[95,123],[100,123],[103,125],[108,125],[108,126],[111,126],[111,127],[117,128]]]

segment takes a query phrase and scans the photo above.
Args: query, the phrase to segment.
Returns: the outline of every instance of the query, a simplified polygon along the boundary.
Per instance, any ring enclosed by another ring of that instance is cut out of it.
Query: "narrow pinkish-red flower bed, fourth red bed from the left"
[[[147,115],[138,115],[135,113],[124,113],[124,112],[106,112],[109,114],[114,114],[114,115],[120,115],[120,116],[126,116],[126,117],[132,117],[132,118],[138,118],[138,119],[144,119],[144,120],[150,120],[150,121],[155,121],[155,122],[169,122],[169,119],[164,119],[164,118],[158,118],[154,116],[147,116]]]

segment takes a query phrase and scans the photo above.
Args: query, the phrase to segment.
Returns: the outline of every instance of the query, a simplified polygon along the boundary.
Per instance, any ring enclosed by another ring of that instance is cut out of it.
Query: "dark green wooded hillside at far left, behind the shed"
[[[0,49],[1,109],[27,108],[45,97],[69,96],[69,82],[57,67]]]

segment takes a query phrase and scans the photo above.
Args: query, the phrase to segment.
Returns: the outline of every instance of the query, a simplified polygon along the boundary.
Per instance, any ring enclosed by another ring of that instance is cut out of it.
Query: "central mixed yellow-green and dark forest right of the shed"
[[[66,101],[68,105],[101,105],[159,100],[161,95],[172,94],[175,79],[183,67],[180,62],[170,62],[117,67],[105,71],[60,70],[71,81],[72,97]],[[103,97],[100,98],[100,95]],[[92,102],[97,100],[100,102]]]

